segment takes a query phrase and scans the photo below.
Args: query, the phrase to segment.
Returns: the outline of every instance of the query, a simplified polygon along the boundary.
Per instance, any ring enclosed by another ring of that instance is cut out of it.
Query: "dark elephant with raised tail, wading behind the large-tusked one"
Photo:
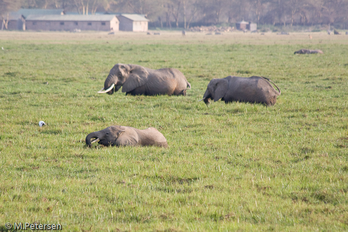
[[[205,104],[209,104],[209,99],[218,101],[220,98],[225,103],[229,101],[244,101],[251,103],[263,103],[272,106],[277,100],[281,91],[278,92],[265,77],[233,77],[228,76],[222,79],[212,79],[203,95]],[[201,101],[199,100],[199,101]]]

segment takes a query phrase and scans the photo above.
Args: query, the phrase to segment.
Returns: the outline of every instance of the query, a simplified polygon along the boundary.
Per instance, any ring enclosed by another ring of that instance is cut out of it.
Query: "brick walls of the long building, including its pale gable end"
[[[51,30],[51,31],[73,31],[94,30],[94,31],[118,31],[116,17],[111,21],[26,21],[27,30]]]

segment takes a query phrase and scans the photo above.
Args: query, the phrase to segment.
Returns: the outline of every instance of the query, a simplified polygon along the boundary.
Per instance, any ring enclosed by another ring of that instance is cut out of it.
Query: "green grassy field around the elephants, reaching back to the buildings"
[[[348,231],[348,36],[312,36],[1,32],[0,231]],[[192,89],[97,94],[116,63],[179,69]],[[229,75],[282,93],[197,102]],[[110,125],[155,127],[169,148],[88,149]]]

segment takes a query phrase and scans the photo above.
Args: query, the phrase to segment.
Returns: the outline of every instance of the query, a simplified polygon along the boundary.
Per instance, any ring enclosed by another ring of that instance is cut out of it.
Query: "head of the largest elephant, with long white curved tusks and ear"
[[[129,92],[143,86],[149,76],[148,71],[139,65],[116,64],[107,76],[104,87],[98,93],[113,94],[122,87],[122,92]],[[115,87],[115,88],[114,88]]]

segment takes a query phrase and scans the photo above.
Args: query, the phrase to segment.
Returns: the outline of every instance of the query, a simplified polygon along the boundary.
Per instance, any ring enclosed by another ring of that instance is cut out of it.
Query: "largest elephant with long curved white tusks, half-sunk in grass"
[[[186,89],[191,88],[186,77],[176,69],[152,70],[139,65],[116,64],[98,93],[112,94],[121,86],[122,92],[132,95],[186,95]]]

